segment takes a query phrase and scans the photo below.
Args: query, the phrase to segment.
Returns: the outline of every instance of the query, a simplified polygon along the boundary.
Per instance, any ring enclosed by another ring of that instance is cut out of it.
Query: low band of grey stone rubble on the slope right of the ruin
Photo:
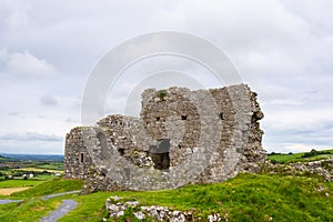
[[[333,180],[333,159],[286,164],[272,164],[271,161],[265,161],[263,171],[271,173],[287,173],[300,175],[314,174],[322,176],[325,181],[330,182]]]

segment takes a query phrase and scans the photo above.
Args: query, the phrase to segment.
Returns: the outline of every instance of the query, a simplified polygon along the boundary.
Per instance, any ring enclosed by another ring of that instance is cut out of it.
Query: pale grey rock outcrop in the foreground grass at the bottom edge
[[[204,221],[201,218],[195,218],[193,211],[176,211],[167,206],[140,205],[138,201],[122,201],[119,196],[110,196],[105,202],[105,210],[109,218],[119,219],[125,214],[125,211],[132,208],[132,215],[138,220],[151,219],[153,221],[170,221],[170,222],[189,222],[189,221]],[[220,213],[208,215],[205,221],[218,222],[222,218]]]

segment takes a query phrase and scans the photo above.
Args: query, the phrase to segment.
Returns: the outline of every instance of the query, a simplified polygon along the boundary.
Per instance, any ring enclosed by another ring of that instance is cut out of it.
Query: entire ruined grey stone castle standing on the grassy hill
[[[256,172],[266,153],[256,93],[245,84],[148,89],[140,118],[108,115],[65,138],[64,175],[97,190],[158,190]]]

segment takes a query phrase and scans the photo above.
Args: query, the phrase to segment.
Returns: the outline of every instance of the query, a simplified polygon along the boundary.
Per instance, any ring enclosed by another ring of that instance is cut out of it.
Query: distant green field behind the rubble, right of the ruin
[[[306,152],[304,153],[295,153],[295,154],[273,154],[269,155],[268,159],[271,161],[275,161],[278,163],[289,163],[289,162],[309,162],[309,161],[315,161],[315,160],[322,160],[322,159],[329,159],[333,158],[333,150],[322,150],[319,152],[329,152],[327,154],[316,154],[309,158],[302,158]]]

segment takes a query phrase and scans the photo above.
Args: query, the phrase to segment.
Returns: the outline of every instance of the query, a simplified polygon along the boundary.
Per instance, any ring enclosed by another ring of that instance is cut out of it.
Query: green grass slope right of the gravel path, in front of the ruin
[[[324,188],[322,192],[316,191]],[[326,196],[326,193],[329,196]],[[108,195],[138,200],[143,205],[194,210],[196,216],[219,212],[229,221],[333,221],[333,184],[314,178],[240,174],[224,183],[188,185],[150,192],[99,192],[78,195],[75,211],[61,221],[100,221]],[[123,219],[125,221],[125,219]]]

